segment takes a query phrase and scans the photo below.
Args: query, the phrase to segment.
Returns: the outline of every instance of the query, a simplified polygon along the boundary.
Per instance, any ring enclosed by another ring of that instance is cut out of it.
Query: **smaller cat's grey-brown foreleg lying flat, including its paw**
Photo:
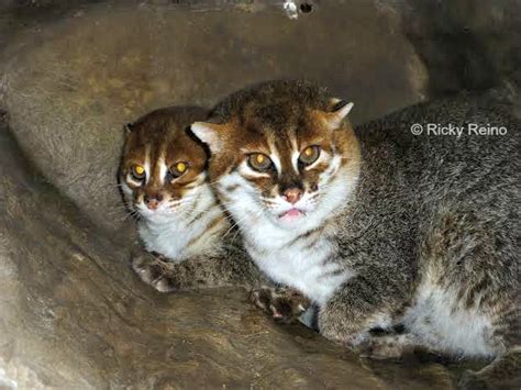
[[[265,277],[244,256],[195,256],[181,263],[140,250],[132,255],[132,269],[146,285],[159,292],[225,286],[255,286]]]

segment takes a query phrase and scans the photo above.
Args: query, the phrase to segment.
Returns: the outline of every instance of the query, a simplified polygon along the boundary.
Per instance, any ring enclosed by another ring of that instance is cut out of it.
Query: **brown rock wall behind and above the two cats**
[[[280,4],[247,3],[226,11],[204,2],[86,5],[56,22],[27,22],[10,40],[3,77],[4,107],[22,148],[114,232],[123,220],[114,211],[122,126],[154,108],[212,105],[275,78],[329,87],[355,102],[356,122],[424,98],[426,74],[392,8],[324,3],[290,20]]]

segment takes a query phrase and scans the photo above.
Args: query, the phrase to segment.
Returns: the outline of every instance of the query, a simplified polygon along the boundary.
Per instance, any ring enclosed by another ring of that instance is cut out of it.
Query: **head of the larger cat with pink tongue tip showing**
[[[208,122],[193,123],[211,149],[211,180],[235,219],[298,230],[341,208],[359,170],[346,120],[352,105],[304,81],[270,81],[233,93]]]

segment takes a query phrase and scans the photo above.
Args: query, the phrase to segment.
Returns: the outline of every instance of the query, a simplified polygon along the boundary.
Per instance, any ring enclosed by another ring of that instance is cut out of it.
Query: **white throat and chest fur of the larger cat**
[[[219,182],[219,189],[226,198],[226,208],[240,226],[245,247],[260,270],[274,281],[296,288],[319,305],[324,304],[343,282],[354,276],[339,261],[334,239],[324,234],[308,235],[322,226],[355,188],[357,176],[351,175],[348,169],[337,179],[326,180],[325,177],[334,174],[340,160],[322,174],[324,179],[321,186],[328,186],[329,190],[321,202],[292,227],[274,222],[274,216],[269,216],[267,208],[262,205],[256,189],[240,172],[222,177]],[[237,189],[226,191],[226,186]]]

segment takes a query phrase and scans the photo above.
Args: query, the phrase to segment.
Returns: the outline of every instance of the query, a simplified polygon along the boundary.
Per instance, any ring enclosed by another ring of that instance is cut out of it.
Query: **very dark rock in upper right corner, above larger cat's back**
[[[521,83],[521,2],[403,3],[404,32],[429,70],[430,94]]]

